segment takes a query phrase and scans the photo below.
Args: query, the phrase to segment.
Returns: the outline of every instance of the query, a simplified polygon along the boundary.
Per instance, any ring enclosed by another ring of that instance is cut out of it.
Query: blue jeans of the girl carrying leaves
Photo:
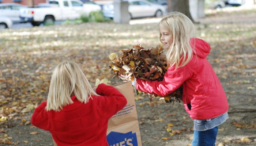
[[[215,146],[219,127],[216,126],[206,131],[194,131],[192,146]]]

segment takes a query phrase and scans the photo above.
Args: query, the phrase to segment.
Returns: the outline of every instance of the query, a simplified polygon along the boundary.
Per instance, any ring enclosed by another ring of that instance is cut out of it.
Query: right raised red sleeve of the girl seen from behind
[[[105,118],[111,118],[114,114],[124,108],[127,100],[116,88],[99,84],[96,89],[98,95],[98,107],[100,114]]]

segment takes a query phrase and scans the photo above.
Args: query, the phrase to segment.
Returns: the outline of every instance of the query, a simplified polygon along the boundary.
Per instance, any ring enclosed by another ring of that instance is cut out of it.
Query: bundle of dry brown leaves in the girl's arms
[[[136,45],[133,46],[132,49],[122,49],[122,55],[120,56],[116,53],[111,53],[109,58],[112,61],[109,67],[114,71],[113,77],[124,74],[128,75],[131,81],[133,81],[134,78],[162,81],[165,72],[169,68],[161,46],[144,49],[141,45]],[[181,88],[178,88],[165,97],[149,94],[150,100],[155,97],[160,97],[164,99],[166,103],[180,101],[181,96]]]

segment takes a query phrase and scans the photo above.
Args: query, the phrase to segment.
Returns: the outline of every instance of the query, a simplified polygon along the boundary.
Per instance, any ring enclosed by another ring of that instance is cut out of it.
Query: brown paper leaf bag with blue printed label
[[[109,146],[142,146],[132,82],[112,85],[127,99],[127,105],[108,122]]]

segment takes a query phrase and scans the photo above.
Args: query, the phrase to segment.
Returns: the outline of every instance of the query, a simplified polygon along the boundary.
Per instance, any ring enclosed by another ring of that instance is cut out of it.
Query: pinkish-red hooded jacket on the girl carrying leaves
[[[136,89],[166,96],[182,85],[182,101],[190,118],[216,118],[227,112],[229,107],[222,85],[206,59],[210,45],[202,39],[192,38],[191,46],[195,46],[196,53],[187,65],[168,68],[162,81],[136,79]],[[191,104],[191,110],[187,104]]]

